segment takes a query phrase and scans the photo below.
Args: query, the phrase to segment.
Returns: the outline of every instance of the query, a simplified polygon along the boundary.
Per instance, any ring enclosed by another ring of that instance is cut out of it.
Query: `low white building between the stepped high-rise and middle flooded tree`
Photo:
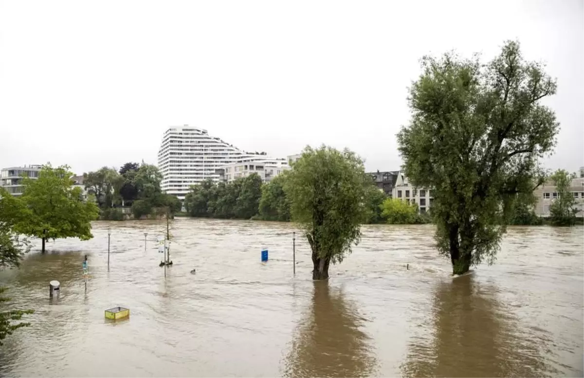
[[[290,169],[290,165],[285,159],[241,159],[235,163],[225,164],[221,169],[224,169],[224,180],[228,183],[253,173],[257,173],[262,178],[262,181],[266,183],[284,170]]]

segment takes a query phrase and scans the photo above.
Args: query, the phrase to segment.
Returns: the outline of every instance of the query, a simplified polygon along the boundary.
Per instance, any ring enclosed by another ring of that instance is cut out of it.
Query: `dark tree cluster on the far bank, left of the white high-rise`
[[[123,220],[119,209],[123,206],[131,206],[135,219],[179,212],[182,204],[175,196],[162,192],[161,181],[162,174],[156,166],[132,162],[119,171],[102,167],[84,173],[85,188],[95,198],[101,218],[106,220]]]

